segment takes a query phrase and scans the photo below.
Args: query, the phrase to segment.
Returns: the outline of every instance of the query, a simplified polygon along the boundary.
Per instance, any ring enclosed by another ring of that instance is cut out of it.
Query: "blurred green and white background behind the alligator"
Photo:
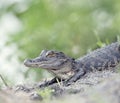
[[[0,29],[0,39],[5,41],[0,51],[5,47],[12,51],[1,62],[2,75],[12,83],[39,81],[48,73],[28,69],[23,61],[38,56],[41,50],[63,51],[77,58],[117,41],[120,0],[1,0],[0,23],[4,27]],[[6,61],[12,61],[12,65]],[[14,75],[8,76],[11,71]]]

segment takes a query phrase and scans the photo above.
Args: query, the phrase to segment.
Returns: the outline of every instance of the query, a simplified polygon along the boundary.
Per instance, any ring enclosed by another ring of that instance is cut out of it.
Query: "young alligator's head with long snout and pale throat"
[[[43,50],[34,59],[26,59],[27,67],[43,68],[61,79],[67,79],[74,75],[73,64],[75,60],[66,56],[63,52]]]

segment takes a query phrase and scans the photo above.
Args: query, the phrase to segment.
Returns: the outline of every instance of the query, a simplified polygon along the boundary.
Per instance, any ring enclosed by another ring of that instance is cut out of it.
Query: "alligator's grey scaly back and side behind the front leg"
[[[79,67],[85,70],[104,70],[117,66],[120,62],[120,44],[112,43],[97,49],[76,60]]]

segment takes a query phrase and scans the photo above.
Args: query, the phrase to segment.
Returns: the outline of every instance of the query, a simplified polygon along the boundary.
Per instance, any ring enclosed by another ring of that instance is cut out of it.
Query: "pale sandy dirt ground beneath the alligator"
[[[113,71],[88,73],[70,86],[55,83],[40,88],[43,82],[17,85],[0,91],[0,102],[120,103],[120,75]],[[18,101],[19,100],[19,101]]]

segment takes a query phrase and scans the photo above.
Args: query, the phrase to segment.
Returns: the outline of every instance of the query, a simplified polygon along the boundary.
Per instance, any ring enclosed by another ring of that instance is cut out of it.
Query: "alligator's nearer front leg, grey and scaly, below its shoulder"
[[[86,72],[81,68],[78,72],[76,72],[71,78],[69,78],[65,83],[65,86],[69,86],[73,82],[76,82],[78,79],[80,79],[82,76],[84,76]]]

